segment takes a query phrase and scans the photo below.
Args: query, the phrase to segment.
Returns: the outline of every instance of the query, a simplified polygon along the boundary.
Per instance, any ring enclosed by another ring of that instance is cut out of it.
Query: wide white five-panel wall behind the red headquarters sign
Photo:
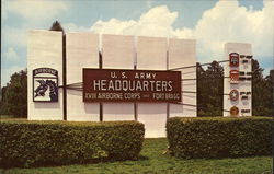
[[[170,70],[196,63],[196,42],[162,37],[96,35],[89,32],[66,34],[66,63],[62,62],[62,33],[30,31],[27,43],[28,119],[64,119],[62,66],[67,79],[67,120],[138,120],[146,137],[165,137],[168,117],[196,116],[196,107],[169,103],[85,103],[82,97],[83,68]],[[58,71],[58,102],[34,102],[32,71]],[[178,70],[183,79],[195,79],[196,69]],[[196,80],[182,81],[182,103],[196,105]]]

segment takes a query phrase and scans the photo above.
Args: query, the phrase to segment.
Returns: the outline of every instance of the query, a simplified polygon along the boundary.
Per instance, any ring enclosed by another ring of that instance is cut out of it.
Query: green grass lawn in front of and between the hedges
[[[271,156],[254,156],[220,160],[180,160],[163,154],[165,138],[146,139],[138,161],[106,162],[85,165],[66,165],[36,169],[1,170],[3,174],[272,174]]]

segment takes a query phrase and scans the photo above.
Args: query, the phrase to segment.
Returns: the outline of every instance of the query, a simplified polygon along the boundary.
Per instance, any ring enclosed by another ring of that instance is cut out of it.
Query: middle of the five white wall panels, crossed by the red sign
[[[103,69],[134,69],[134,37],[102,35]],[[134,103],[103,103],[103,120],[134,120]]]

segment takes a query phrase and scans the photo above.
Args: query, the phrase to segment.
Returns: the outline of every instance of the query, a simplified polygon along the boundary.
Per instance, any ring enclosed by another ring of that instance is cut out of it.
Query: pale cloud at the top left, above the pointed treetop
[[[13,0],[5,1],[3,9],[16,13],[26,20],[50,19],[68,9],[64,1],[54,0]]]

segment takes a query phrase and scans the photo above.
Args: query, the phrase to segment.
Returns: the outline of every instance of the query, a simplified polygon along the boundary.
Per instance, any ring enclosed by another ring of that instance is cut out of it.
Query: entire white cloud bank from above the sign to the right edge
[[[124,34],[160,37],[195,38],[202,61],[224,59],[227,42],[251,43],[255,57],[273,55],[274,2],[264,1],[262,10],[240,7],[237,0],[219,0],[205,11],[194,28],[173,28],[178,12],[165,5],[150,9],[139,20],[96,21],[91,31],[100,34]]]

